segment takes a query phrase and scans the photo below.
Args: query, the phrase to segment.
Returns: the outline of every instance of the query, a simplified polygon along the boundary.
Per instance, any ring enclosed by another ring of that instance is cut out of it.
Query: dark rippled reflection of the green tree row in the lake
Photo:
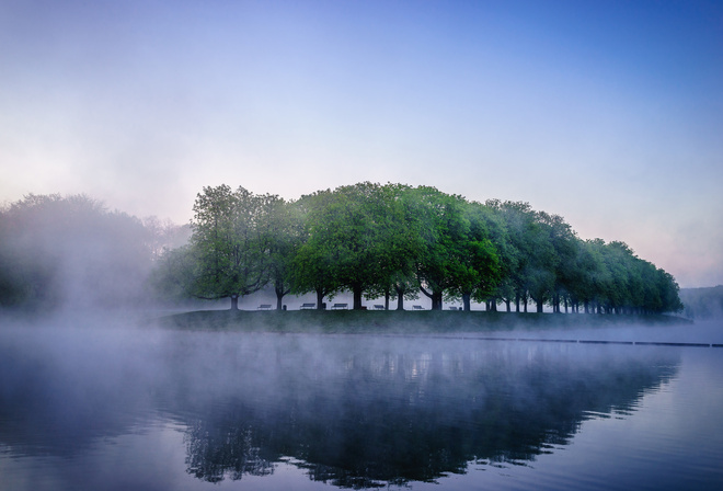
[[[291,458],[312,480],[371,488],[434,481],[471,461],[527,465],[569,444],[590,414],[634,411],[677,369],[669,351],[638,346],[268,341],[245,339],[179,386],[198,391],[181,404],[194,407],[186,464],[197,478],[265,476]]]

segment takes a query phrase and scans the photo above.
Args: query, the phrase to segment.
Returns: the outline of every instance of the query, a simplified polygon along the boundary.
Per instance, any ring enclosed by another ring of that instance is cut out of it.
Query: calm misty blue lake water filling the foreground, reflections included
[[[721,490],[722,463],[723,347],[0,330],[2,490]]]

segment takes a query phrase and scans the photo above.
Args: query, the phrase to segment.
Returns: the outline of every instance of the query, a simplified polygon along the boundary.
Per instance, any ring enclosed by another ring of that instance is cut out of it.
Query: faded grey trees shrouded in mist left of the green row
[[[112,212],[85,195],[27,195],[0,208],[0,307],[138,306],[163,248],[187,227]]]

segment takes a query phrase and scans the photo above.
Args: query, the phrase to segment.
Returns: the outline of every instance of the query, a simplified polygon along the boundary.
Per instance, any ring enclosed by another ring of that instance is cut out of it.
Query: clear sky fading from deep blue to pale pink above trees
[[[528,202],[723,284],[723,2],[0,0],[0,204]]]

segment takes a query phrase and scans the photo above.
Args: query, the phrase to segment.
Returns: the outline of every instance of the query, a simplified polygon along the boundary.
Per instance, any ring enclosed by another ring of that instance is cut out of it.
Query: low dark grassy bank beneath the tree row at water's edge
[[[485,311],[366,311],[366,310],[198,310],[158,319],[172,329],[240,332],[311,333],[448,333],[512,329],[602,328],[689,323],[673,316],[612,316],[564,313],[507,313]]]

